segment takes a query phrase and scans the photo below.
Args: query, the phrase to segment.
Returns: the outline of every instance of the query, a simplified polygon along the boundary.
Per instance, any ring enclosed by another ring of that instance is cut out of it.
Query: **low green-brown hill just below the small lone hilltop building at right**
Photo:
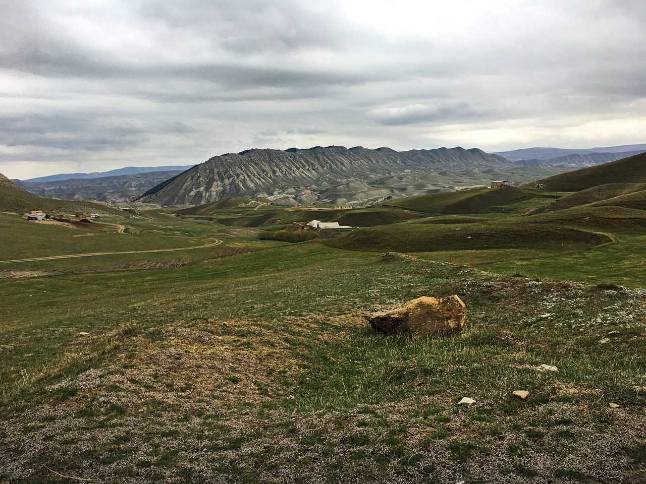
[[[389,207],[408,208],[430,214],[475,214],[494,207],[518,203],[537,197],[521,188],[473,188],[459,192],[443,192],[388,202]]]

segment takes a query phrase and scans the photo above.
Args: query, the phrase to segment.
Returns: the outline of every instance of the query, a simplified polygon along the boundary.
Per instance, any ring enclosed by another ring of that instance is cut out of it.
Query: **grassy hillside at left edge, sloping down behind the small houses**
[[[97,214],[120,214],[127,216],[116,208],[107,207],[99,203],[57,200],[42,198],[30,194],[23,188],[18,187],[10,179],[0,174],[0,212],[12,212],[24,214],[31,210],[43,210],[43,212],[63,212],[74,214],[75,212],[97,213]]]

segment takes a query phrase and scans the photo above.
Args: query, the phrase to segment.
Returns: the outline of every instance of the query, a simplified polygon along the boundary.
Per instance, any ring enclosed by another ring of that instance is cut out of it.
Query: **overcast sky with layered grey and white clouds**
[[[643,0],[0,0],[0,173],[645,143]]]

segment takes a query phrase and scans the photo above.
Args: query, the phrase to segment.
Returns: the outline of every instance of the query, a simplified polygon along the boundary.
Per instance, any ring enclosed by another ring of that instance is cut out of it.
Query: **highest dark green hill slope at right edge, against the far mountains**
[[[608,183],[646,183],[646,153],[551,176],[523,188],[542,186],[545,190],[580,192]]]

